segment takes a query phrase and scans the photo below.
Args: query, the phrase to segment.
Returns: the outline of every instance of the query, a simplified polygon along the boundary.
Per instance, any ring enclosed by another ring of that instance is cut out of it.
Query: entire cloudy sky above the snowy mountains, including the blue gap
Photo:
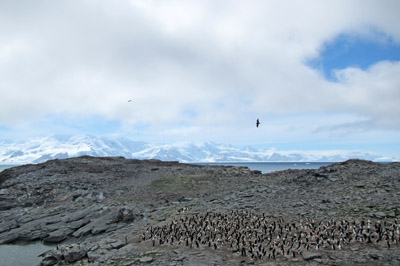
[[[2,0],[0,139],[400,157],[399,11],[397,0]]]

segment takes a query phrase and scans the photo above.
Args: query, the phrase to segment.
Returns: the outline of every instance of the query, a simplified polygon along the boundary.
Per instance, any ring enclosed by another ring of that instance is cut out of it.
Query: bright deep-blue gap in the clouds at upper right
[[[385,34],[377,33],[374,39],[341,34],[325,43],[320,57],[308,61],[307,65],[321,71],[327,80],[336,81],[334,70],[347,67],[366,70],[385,60],[400,60],[400,44]]]

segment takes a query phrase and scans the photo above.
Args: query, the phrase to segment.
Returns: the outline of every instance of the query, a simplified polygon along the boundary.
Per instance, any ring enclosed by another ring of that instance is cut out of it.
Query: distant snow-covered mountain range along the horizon
[[[150,144],[126,138],[95,136],[49,136],[25,142],[0,140],[0,164],[40,163],[80,155],[123,156],[180,162],[338,162],[351,158],[393,161],[370,152],[358,151],[280,151],[238,148],[204,142],[201,144]]]

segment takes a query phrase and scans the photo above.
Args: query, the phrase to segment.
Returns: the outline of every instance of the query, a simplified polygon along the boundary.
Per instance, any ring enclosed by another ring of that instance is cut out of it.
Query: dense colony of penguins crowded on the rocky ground
[[[305,250],[340,250],[351,243],[386,248],[399,244],[400,224],[370,220],[301,220],[285,222],[265,214],[231,211],[183,216],[149,227],[141,241],[156,245],[228,249],[253,259],[296,257]]]

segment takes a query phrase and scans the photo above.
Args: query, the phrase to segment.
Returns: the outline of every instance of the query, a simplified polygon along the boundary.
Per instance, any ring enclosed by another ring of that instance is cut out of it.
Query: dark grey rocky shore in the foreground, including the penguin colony
[[[0,244],[41,265],[399,265],[400,163],[246,167],[77,157],[0,173]]]

